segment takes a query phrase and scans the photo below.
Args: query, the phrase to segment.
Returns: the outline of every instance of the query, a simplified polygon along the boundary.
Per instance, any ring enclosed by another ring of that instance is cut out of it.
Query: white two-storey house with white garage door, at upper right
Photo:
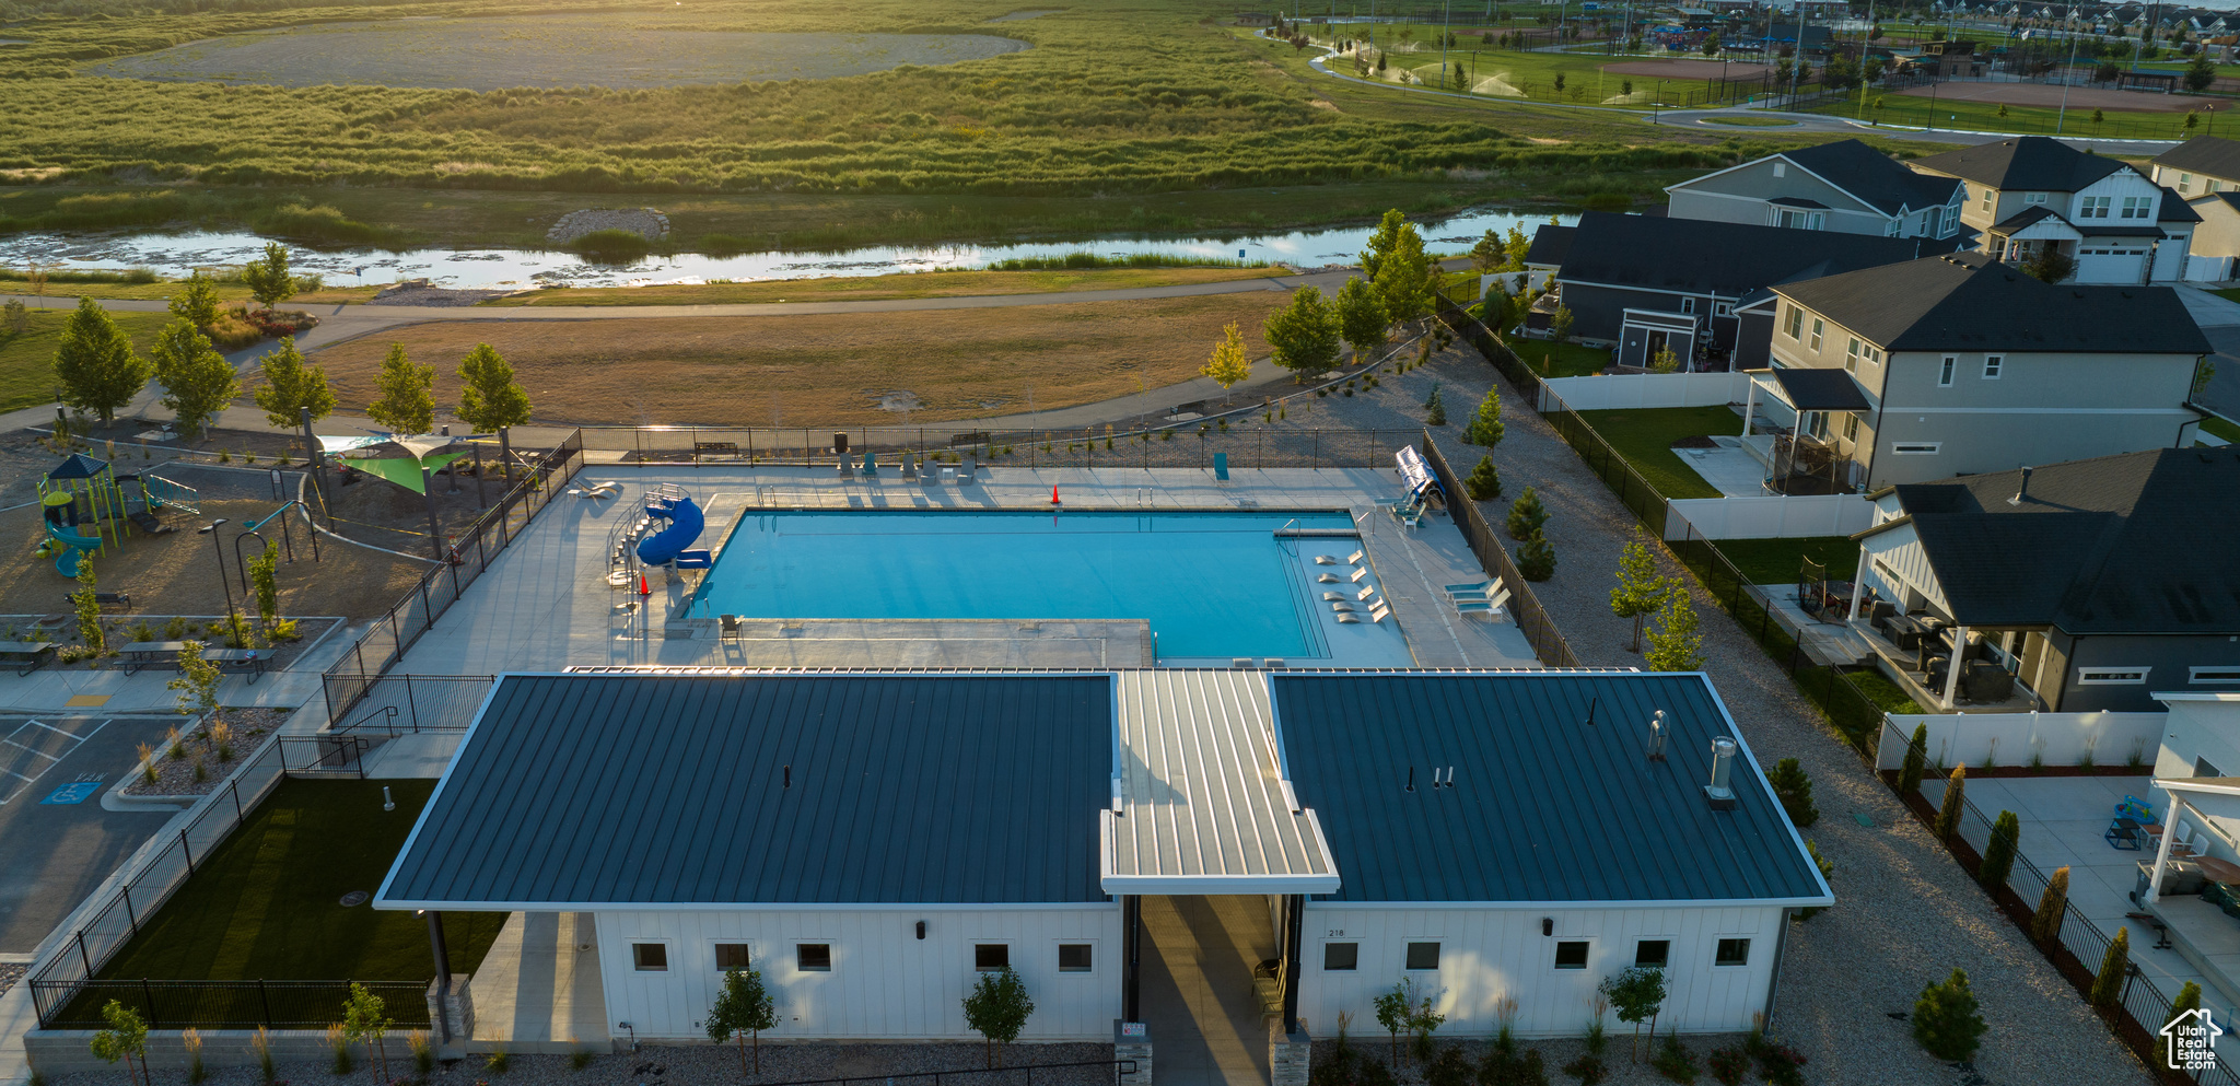
[[[1960,222],[1994,260],[2020,264],[2052,246],[2076,262],[2074,282],[2177,282],[2186,273],[2197,217],[2124,161],[2016,137],[1913,159],[1913,168],[1964,181]]]

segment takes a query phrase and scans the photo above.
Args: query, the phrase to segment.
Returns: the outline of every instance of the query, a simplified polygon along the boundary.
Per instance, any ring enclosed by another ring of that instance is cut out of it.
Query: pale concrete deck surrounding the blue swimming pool
[[[744,643],[726,643],[712,620],[683,622],[697,575],[652,573],[652,596],[609,587],[607,533],[638,508],[656,484],[688,488],[708,511],[703,544],[721,542],[750,508],[896,508],[992,511],[1064,508],[1127,511],[1351,511],[1362,546],[1391,600],[1407,654],[1389,627],[1346,627],[1384,640],[1357,661],[1286,661],[1315,665],[1541,667],[1523,631],[1508,618],[1460,616],[1440,584],[1485,580],[1460,531],[1443,515],[1418,528],[1382,513],[1400,493],[1393,470],[1268,468],[1232,470],[1221,484],[1196,468],[981,468],[972,484],[918,486],[885,468],[876,479],[836,468],[750,466],[587,466],[571,488],[618,481],[620,499],[558,497],[515,537],[491,569],[405,654],[399,670],[417,674],[553,672],[560,667],[699,665],[699,667],[1140,667],[1140,652],[1113,622],[1044,620],[977,622],[1012,627],[1004,636],[959,636],[952,620],[750,620]],[[1340,544],[1344,540],[1328,540]],[[1351,546],[1348,546],[1351,549]],[[1344,551],[1340,551],[1344,553]],[[672,625],[672,618],[681,622]],[[1026,616],[1033,618],[1033,616]],[[815,629],[811,629],[811,625]],[[797,629],[788,629],[797,627]],[[1340,649],[1342,652],[1342,649]],[[1203,661],[1198,661],[1203,663]],[[1225,663],[1225,661],[1223,661]]]

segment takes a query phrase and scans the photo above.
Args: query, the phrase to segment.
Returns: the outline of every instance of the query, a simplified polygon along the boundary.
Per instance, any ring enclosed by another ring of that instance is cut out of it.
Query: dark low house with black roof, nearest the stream
[[[1555,282],[1572,313],[1572,338],[1617,347],[1620,365],[1646,367],[1669,349],[1698,369],[1765,365],[1772,318],[1745,318],[1736,307],[1776,282],[1897,264],[1958,244],[1590,210],[1570,228],[1541,226],[1534,253],[1548,231],[1568,231]]]

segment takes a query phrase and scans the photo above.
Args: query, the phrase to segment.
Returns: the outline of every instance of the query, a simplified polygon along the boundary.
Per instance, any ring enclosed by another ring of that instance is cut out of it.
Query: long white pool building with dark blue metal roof
[[[1633,965],[1740,1032],[1832,900],[1702,674],[652,670],[500,676],[374,909],[591,914],[638,1039],[750,967],[764,1039],[965,1039],[1015,970],[1024,1039],[1109,1041],[1203,967],[1284,1041],[1400,979],[1443,1034],[1575,1037]]]

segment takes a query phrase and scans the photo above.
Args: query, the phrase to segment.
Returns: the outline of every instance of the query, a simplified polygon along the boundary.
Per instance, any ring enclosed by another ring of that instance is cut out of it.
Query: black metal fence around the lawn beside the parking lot
[[[96,981],[96,976],[101,976],[103,965],[108,965],[108,961],[139,934],[141,920],[161,909],[164,902],[170,900],[172,891],[193,878],[195,864],[217,851],[217,846],[233,835],[235,828],[240,828],[249,813],[255,811],[282,779],[363,777],[365,750],[367,743],[356,737],[273,737],[269,743],[258,748],[213,797],[202,802],[202,811],[195,813],[195,817],[170,840],[161,842],[148,864],[119,884],[116,891],[72,931],[69,940],[60,945],[54,956],[38,967],[38,972],[31,974],[31,1005],[38,1012],[40,1028],[78,1028],[78,1023],[90,1019],[94,1026],[101,1026],[99,1012],[108,999],[123,999],[128,1005],[159,1014],[159,1019],[152,1019],[150,1026],[157,1026],[157,1021],[168,1028],[224,1028],[237,1021],[246,1021],[249,1026],[280,1026],[280,1019],[195,1019],[195,1008],[202,1005],[228,1008],[226,1014],[244,1014],[242,1008],[249,1005],[246,1001],[251,996],[240,992],[255,992],[260,981]],[[273,981],[273,985],[280,983],[282,981]],[[343,985],[347,994],[347,981],[334,983]],[[426,981],[410,987],[417,992],[426,987]],[[125,999],[132,990],[139,992],[139,1003]],[[220,996],[215,992],[235,994]],[[99,999],[94,999],[94,994],[99,994]],[[318,1005],[307,1003],[307,999],[311,996],[280,996],[278,1003],[273,1003],[273,1010]],[[421,999],[403,1003],[392,1001],[390,1005],[399,1023],[412,1026],[417,1021],[426,1026],[428,1010]],[[287,1012],[293,1014],[293,1010]],[[340,1019],[327,1017],[318,1023],[325,1026],[327,1021]]]

